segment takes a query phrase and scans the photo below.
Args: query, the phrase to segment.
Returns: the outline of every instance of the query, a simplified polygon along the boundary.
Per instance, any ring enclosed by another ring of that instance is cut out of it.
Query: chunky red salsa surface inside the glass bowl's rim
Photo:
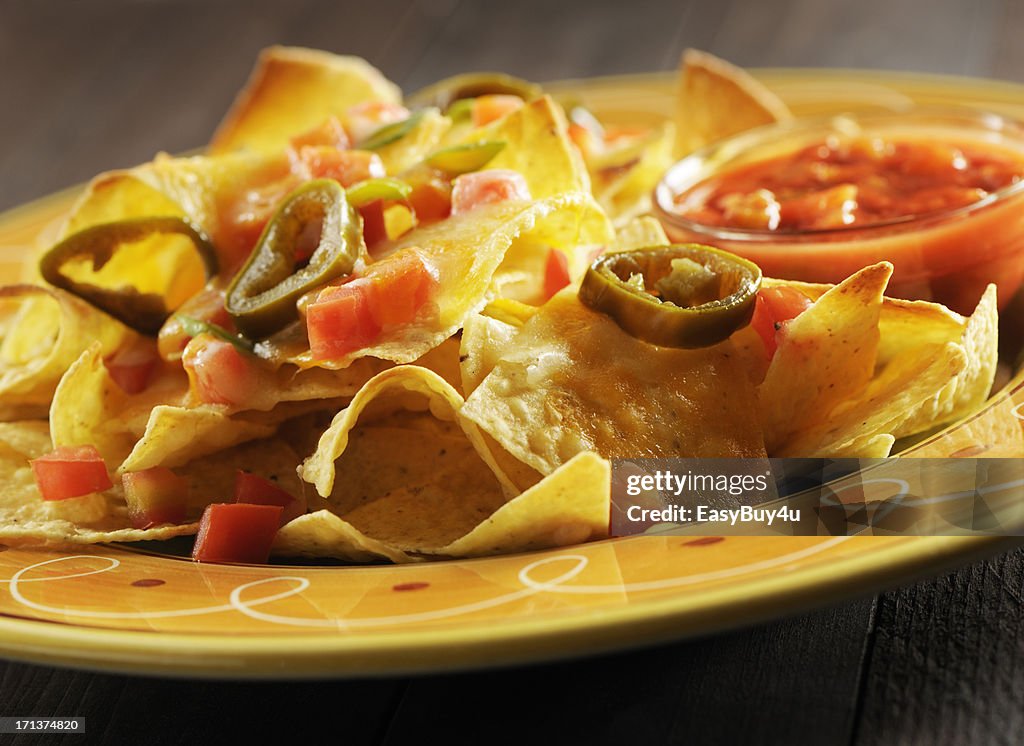
[[[676,198],[703,225],[778,232],[865,227],[972,205],[1024,160],[983,143],[830,136],[716,174]]]

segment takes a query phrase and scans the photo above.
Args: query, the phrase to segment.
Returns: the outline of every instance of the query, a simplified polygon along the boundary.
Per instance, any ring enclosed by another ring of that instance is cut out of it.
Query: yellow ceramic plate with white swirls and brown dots
[[[1024,87],[762,71],[798,114],[908,102],[1024,117]],[[577,81],[609,121],[671,114],[670,76]],[[75,190],[0,216],[0,275]],[[1024,377],[920,455],[1024,455]],[[1008,427],[1009,426],[1009,427]],[[989,433],[1005,435],[986,442]],[[1009,435],[1008,435],[1009,433]],[[316,676],[489,666],[718,630],[934,573],[1015,539],[633,537],[431,565],[247,567],[104,545],[0,551],[0,655],[150,673]]]

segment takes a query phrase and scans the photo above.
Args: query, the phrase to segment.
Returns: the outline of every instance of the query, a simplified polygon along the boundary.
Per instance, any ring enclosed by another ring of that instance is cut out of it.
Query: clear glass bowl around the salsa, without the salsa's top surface
[[[894,265],[886,295],[936,301],[967,314],[985,287],[995,282],[1000,307],[1009,303],[1024,279],[1024,180],[964,207],[864,226],[786,232],[721,227],[676,210],[677,198],[713,175],[785,156],[829,136],[972,145],[1009,153],[1024,164],[1024,124],[995,114],[916,108],[794,120],[750,130],[676,163],[654,189],[655,214],[673,242],[725,249],[756,262],[770,277],[839,282],[886,260]]]

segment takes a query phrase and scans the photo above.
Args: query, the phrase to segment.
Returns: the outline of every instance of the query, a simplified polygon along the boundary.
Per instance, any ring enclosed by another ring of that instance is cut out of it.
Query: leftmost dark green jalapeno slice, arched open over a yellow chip
[[[162,295],[142,293],[131,286],[104,288],[70,277],[66,269],[72,262],[91,259],[93,271],[98,271],[122,246],[168,233],[178,233],[191,242],[207,279],[217,273],[217,253],[210,240],[187,220],[172,216],[119,220],[84,228],[43,255],[39,272],[50,284],[88,301],[137,332],[156,335],[173,310],[167,308]]]

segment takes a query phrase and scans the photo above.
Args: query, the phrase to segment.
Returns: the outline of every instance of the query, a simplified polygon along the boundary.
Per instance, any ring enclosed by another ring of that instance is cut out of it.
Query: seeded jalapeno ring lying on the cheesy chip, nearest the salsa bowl
[[[633,337],[663,347],[709,347],[745,326],[761,269],[699,244],[606,254],[587,270],[580,300]]]

